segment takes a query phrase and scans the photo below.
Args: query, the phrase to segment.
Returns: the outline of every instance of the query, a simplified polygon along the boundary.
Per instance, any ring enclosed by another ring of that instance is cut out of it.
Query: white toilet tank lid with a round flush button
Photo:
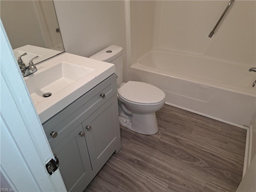
[[[111,62],[112,60],[118,58],[122,54],[123,48],[116,45],[111,45],[104,50],[90,56],[89,58]]]

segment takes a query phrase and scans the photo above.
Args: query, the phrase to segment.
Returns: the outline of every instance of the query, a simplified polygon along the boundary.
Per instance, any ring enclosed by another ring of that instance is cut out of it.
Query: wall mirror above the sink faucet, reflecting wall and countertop
[[[16,58],[38,55],[34,64],[64,52],[58,20],[51,0],[0,1],[1,20]]]

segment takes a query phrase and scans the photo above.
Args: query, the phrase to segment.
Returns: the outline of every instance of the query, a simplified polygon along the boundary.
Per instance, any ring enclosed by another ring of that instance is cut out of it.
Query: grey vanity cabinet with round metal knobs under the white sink
[[[121,148],[116,92],[113,74],[43,124],[67,191],[83,191]]]

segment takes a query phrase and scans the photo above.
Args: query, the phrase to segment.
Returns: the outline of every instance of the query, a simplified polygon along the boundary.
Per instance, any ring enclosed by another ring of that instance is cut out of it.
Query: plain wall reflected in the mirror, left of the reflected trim
[[[27,44],[47,48],[32,1],[1,1],[0,4],[1,20],[12,49]]]

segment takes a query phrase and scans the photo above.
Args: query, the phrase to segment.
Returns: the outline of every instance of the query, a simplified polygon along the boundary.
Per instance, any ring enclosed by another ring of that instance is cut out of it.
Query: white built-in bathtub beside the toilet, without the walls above
[[[129,80],[158,86],[166,93],[166,104],[246,128],[256,108],[256,73],[250,67],[153,50],[131,66]]]

